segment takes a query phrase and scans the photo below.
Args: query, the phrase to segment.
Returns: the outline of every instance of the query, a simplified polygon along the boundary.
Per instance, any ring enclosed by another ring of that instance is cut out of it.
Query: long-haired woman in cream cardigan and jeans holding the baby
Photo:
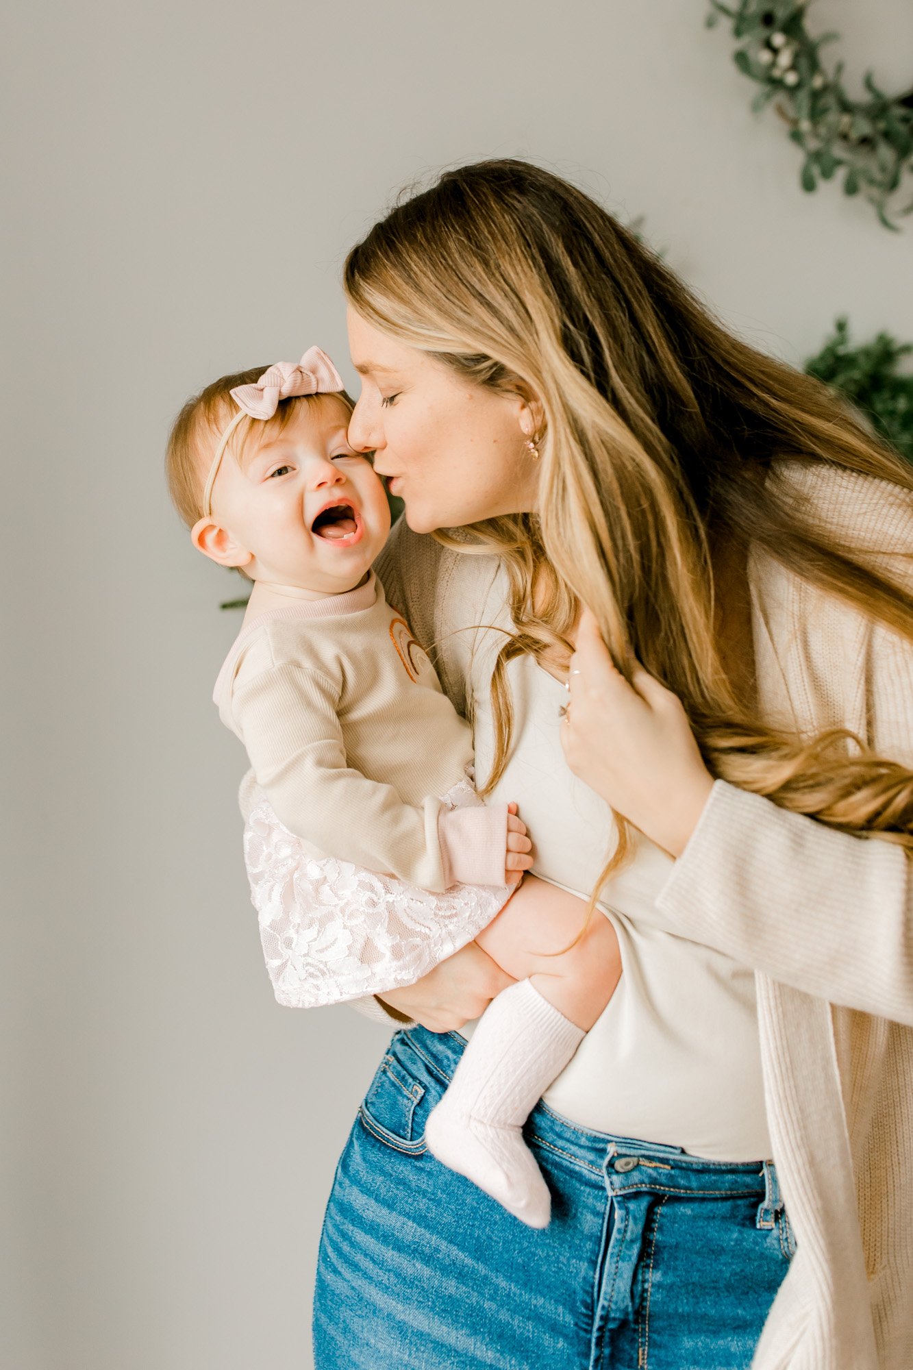
[[[424,1026],[340,1160],[318,1370],[909,1366],[913,473],[521,162],[345,289],[388,597],[624,975],[531,1119],[544,1233],[422,1143],[506,977],[470,945],[385,996]]]

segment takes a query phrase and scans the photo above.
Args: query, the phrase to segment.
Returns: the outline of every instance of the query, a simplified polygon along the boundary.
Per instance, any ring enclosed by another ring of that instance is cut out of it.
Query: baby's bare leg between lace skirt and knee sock
[[[621,952],[598,908],[576,940],[585,914],[585,900],[526,875],[476,941],[509,975],[529,980],[565,1018],[589,1032],[621,977]]]

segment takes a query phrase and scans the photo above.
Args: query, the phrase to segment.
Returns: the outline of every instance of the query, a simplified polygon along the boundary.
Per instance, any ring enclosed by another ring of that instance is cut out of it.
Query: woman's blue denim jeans
[[[425,1149],[465,1040],[398,1033],[336,1171],[317,1271],[317,1370],[739,1370],[792,1256],[768,1162],[525,1130],[552,1193],[525,1228]]]

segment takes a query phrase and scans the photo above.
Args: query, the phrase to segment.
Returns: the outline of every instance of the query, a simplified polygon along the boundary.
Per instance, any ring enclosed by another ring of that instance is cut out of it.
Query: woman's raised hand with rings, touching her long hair
[[[584,608],[561,726],[574,775],[672,856],[684,851],[713,777],[677,695],[635,666],[632,689]]]

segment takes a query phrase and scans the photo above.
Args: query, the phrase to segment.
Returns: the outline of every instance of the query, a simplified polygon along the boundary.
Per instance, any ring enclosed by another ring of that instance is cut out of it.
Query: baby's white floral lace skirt
[[[256,786],[244,862],[276,999],[317,1008],[411,985],[487,927],[510,895],[500,885],[451,885],[441,895],[332,856],[315,858]],[[448,808],[478,804],[461,781]],[[247,806],[245,806],[247,807]]]

